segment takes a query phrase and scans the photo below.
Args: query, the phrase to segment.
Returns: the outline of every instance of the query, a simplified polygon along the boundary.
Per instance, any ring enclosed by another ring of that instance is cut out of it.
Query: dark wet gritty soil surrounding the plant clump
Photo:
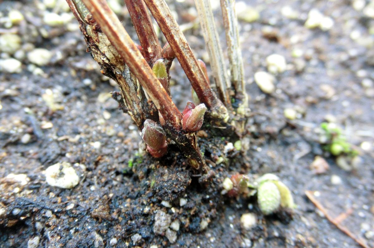
[[[37,1],[0,3],[0,33],[21,37],[21,52],[2,52],[1,59],[22,62],[19,73],[0,74],[0,247],[358,247],[316,210],[306,190],[316,191],[315,198],[333,218],[349,212],[341,224],[374,246],[374,10],[369,3],[243,3],[260,13],[252,23],[240,21],[253,113],[249,147],[215,165],[216,176],[206,189],[178,152],[162,160],[138,153],[139,131],[110,98],[108,92],[117,88],[85,52],[76,21],[46,25],[45,11],[61,15],[68,10],[43,6]],[[193,4],[171,7],[178,22],[186,24],[184,33],[197,57],[207,61],[199,26],[188,28],[196,18]],[[313,8],[334,20],[329,30],[304,26]],[[20,10],[25,20],[9,27],[11,9]],[[136,40],[126,12],[120,16]],[[33,47],[52,52],[47,65],[30,62]],[[275,92],[264,94],[253,74],[267,70],[266,57],[273,53],[285,57],[287,70],[276,76]],[[174,64],[172,97],[182,109],[190,85]],[[285,108],[296,109],[298,118],[286,119]],[[326,119],[343,127],[359,151],[361,163],[353,171],[339,168],[318,143],[315,129]],[[205,156],[219,155],[227,142],[211,136],[199,141]],[[317,155],[329,164],[322,174],[310,169]],[[73,189],[46,183],[43,171],[58,162],[71,163],[79,175]],[[255,198],[221,195],[223,179],[236,172],[278,175],[297,204],[292,220],[285,212],[264,217]],[[178,231],[154,232],[161,212],[180,223]],[[240,217],[248,212],[257,222],[245,230]],[[171,244],[173,235],[177,239]]]

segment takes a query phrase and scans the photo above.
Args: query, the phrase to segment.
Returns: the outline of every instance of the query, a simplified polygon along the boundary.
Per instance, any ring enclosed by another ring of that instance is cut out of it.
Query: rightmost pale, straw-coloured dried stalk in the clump
[[[235,13],[235,0],[221,0],[223,24],[226,31],[227,53],[230,61],[231,82],[235,89],[235,98],[242,100],[244,107],[248,106],[248,96],[245,92],[244,67],[242,52],[239,45],[239,28]]]

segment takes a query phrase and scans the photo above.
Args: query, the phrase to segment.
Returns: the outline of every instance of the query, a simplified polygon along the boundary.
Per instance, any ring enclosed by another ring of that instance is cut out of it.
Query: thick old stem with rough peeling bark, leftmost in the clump
[[[93,59],[101,65],[101,72],[114,79],[121,91],[122,99],[117,99],[125,104],[128,113],[135,124],[141,129],[146,119],[157,120],[156,107],[147,102],[144,92],[137,79],[129,70],[116,49],[111,45],[107,36],[97,28],[95,22],[90,18],[86,6],[77,0],[67,0],[71,11],[80,24],[89,52]]]

